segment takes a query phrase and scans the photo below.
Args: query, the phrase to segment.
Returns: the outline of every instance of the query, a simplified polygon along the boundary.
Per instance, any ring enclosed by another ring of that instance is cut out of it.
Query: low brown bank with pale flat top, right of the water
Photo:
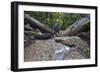
[[[62,43],[66,46],[75,47],[80,49],[84,55],[89,58],[90,57],[90,46],[89,44],[79,37],[59,37],[56,38],[56,42]]]

